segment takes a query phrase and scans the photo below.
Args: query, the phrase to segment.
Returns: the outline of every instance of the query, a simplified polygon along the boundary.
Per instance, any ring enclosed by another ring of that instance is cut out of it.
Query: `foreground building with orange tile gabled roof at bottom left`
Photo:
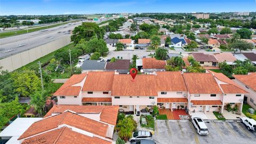
[[[55,105],[19,143],[114,143],[118,106]]]

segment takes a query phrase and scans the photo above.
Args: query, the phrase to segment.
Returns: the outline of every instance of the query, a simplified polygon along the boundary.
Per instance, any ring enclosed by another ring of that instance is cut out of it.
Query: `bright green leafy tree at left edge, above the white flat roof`
[[[1,100],[1,99],[0,99]],[[9,119],[15,115],[24,113],[22,105],[19,103],[18,97],[10,102],[0,101],[0,129],[9,122]]]

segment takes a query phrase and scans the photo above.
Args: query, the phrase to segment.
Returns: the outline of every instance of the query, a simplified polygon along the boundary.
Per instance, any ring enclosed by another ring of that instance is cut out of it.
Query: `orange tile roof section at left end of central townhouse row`
[[[81,90],[81,86],[72,85],[82,82],[86,75],[86,73],[83,73],[71,76],[67,82],[65,82],[55,93],[53,93],[53,95],[78,95]]]

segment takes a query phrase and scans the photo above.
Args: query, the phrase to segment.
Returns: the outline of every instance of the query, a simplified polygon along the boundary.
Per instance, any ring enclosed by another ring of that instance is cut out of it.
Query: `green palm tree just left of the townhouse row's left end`
[[[38,112],[39,115],[42,115],[42,109],[45,106],[46,101],[46,95],[45,92],[36,92],[34,95],[32,95],[30,101],[30,106],[33,106],[35,110]]]

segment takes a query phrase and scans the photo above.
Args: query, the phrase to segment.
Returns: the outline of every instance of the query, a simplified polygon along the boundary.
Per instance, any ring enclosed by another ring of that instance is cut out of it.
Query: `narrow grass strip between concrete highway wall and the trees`
[[[66,46],[64,46],[64,47],[61,47],[60,49],[63,49],[63,50],[65,50],[65,51],[68,51],[68,50],[71,49],[72,47],[74,47],[74,44],[73,44],[73,43],[71,43],[71,44],[69,44],[69,45],[66,45]],[[59,49],[59,50],[60,50],[60,49]],[[21,68],[19,68],[19,69],[22,69],[22,68],[36,68],[36,67],[38,67],[38,65],[37,65],[37,62],[38,62],[38,61],[40,61],[40,62],[42,63],[42,65],[43,65],[44,63],[47,63],[48,61],[50,61],[51,59],[53,59],[53,58],[54,58],[54,54],[55,54],[56,52],[57,52],[57,51],[54,51],[54,52],[52,52],[52,53],[49,53],[49,54],[45,55],[44,57],[39,58],[39,59],[37,59],[37,60],[35,60],[35,61],[33,61],[33,62],[30,62],[30,63],[28,63],[26,66],[23,66],[23,67],[21,67]]]

